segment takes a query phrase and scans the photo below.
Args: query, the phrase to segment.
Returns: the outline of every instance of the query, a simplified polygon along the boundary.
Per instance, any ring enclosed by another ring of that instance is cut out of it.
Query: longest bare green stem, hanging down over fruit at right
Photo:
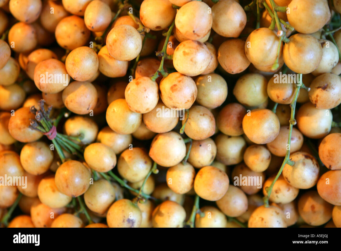
[[[299,76],[299,83],[302,83],[302,74],[300,74],[300,76]],[[265,188],[265,190],[267,192],[267,196],[265,196],[263,198],[265,207],[269,206],[269,198],[270,198],[270,195],[271,195],[271,191],[272,191],[273,185],[275,185],[275,182],[280,177],[285,164],[288,164],[288,165],[291,165],[291,166],[293,166],[295,164],[293,161],[290,160],[290,143],[291,143],[291,134],[292,134],[292,131],[293,131],[293,126],[296,124],[295,109],[296,109],[296,102],[297,102],[297,98],[298,98],[298,94],[299,94],[300,88],[301,88],[301,85],[296,85],[294,98],[293,98],[293,101],[290,104],[291,116],[290,116],[289,135],[288,135],[288,146],[289,147],[288,147],[288,150],[286,151],[285,158],[284,158],[284,161],[282,163],[282,166],[281,166],[280,170],[278,171],[275,179],[272,181],[272,183],[271,183],[271,185],[269,187]]]

